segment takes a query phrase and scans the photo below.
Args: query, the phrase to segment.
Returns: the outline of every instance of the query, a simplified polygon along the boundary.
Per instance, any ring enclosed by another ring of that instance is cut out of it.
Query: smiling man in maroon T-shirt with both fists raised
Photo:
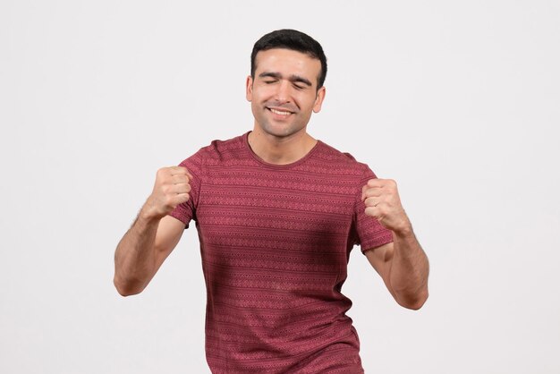
[[[247,78],[252,132],[160,169],[117,246],[115,286],[140,293],[196,222],[213,372],[363,372],[341,293],[355,244],[396,302],[419,309],[428,297],[428,259],[395,182],[306,131],[326,74],[313,38],[260,38]]]

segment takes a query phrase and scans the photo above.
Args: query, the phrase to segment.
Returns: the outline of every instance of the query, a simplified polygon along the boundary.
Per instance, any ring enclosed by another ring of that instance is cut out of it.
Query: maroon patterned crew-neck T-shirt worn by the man
[[[350,251],[393,240],[366,217],[375,175],[318,141],[270,165],[248,133],[182,162],[191,199],[171,216],[199,231],[207,285],[206,353],[214,373],[361,373],[360,343],[341,293]]]

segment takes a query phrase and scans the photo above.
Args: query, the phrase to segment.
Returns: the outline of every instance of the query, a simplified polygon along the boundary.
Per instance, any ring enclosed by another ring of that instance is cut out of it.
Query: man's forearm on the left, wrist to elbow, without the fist
[[[155,272],[154,242],[160,219],[148,217],[143,210],[115,251],[114,282],[123,295],[140,293]]]

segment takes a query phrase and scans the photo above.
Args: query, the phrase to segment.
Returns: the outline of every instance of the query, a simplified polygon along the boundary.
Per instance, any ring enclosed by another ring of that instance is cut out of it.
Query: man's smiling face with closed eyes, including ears
[[[305,132],[311,112],[318,113],[325,88],[317,89],[321,63],[290,49],[260,51],[254,80],[247,78],[247,100],[255,125],[277,138]]]

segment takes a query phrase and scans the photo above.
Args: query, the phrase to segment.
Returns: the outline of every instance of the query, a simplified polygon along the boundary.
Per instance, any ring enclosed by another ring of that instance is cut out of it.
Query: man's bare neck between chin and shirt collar
[[[317,140],[303,129],[286,137],[277,137],[255,129],[249,134],[250,149],[268,164],[287,165],[305,157]]]

